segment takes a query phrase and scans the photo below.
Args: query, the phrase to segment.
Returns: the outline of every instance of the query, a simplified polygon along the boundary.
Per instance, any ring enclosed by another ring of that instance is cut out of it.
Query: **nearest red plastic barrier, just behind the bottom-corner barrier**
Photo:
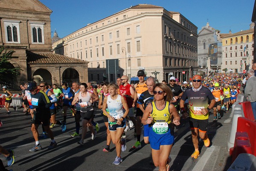
[[[236,139],[232,154],[232,163],[236,160],[236,157],[241,153],[253,154],[253,149],[250,144],[247,132],[236,132]]]

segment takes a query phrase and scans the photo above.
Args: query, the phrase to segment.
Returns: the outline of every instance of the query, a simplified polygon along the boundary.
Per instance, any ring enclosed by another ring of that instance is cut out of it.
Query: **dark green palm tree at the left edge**
[[[9,60],[12,59],[14,50],[7,51],[5,48],[0,48],[0,79],[10,80],[20,74],[20,67],[13,67]]]

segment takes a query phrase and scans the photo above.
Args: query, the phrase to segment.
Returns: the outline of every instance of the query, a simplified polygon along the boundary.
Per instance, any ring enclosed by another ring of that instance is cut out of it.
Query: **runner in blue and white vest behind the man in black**
[[[65,123],[62,123],[61,121],[56,121],[55,120],[55,115],[56,115],[56,107],[55,107],[55,102],[57,101],[57,98],[56,98],[56,96],[52,93],[52,91],[51,90],[49,90],[49,89],[47,89],[48,88],[48,86],[47,86],[47,83],[45,83],[45,82],[41,82],[40,83],[40,90],[41,91],[43,91],[45,94],[47,94],[47,96],[48,96],[48,98],[49,98],[49,100],[50,100],[50,102],[51,102],[51,105],[50,105],[50,107],[49,107],[49,109],[50,109],[50,112],[51,112],[51,118],[50,118],[50,123],[52,123],[51,124],[51,126],[49,126],[50,128],[53,128],[53,126],[55,126],[56,124],[57,125],[60,125],[61,126],[61,131],[62,132],[65,132],[65,130],[66,130],[66,124]],[[44,131],[44,127],[43,127],[43,131]]]

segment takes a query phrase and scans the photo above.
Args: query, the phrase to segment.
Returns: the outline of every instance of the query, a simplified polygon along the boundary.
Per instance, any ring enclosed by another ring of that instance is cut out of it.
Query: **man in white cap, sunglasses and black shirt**
[[[180,110],[179,102],[180,102],[180,97],[183,95],[182,88],[180,85],[175,84],[176,78],[174,76],[170,77],[170,83],[167,84],[168,87],[171,88],[171,91],[173,93],[173,102],[172,104],[176,107],[177,112]]]

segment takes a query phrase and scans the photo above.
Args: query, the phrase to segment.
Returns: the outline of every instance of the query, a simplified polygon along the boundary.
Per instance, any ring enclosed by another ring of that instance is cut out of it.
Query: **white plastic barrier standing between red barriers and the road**
[[[227,141],[228,151],[230,150],[231,147],[234,146],[234,143],[235,143],[238,118],[244,115],[242,105],[236,104],[236,106],[232,108],[232,113],[233,113],[232,125],[230,128],[230,134]]]

